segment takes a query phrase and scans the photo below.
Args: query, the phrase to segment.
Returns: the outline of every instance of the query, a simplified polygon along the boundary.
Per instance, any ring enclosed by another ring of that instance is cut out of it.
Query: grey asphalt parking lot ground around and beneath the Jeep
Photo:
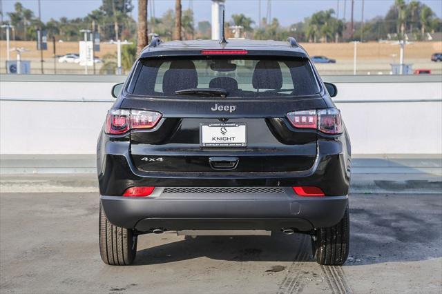
[[[441,293],[442,195],[354,194],[345,266],[305,235],[143,235],[133,266],[102,263],[97,193],[1,193],[1,293]]]

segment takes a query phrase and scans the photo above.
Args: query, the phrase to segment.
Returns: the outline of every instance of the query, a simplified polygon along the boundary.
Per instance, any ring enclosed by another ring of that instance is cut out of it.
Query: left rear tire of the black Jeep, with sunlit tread
[[[137,254],[137,236],[133,230],[111,224],[99,204],[99,253],[105,264],[127,266]]]

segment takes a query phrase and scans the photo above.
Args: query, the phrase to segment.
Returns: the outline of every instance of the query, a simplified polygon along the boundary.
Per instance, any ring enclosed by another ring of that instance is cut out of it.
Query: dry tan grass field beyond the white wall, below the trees
[[[302,43],[309,55],[325,55],[336,59],[336,64],[317,64],[318,70],[326,75],[344,75],[353,73],[353,43]],[[36,49],[35,41],[12,41],[11,48],[23,47],[27,52],[23,52],[23,60],[32,61],[32,73],[39,73],[40,52]],[[56,43],[57,55],[79,52],[77,42]],[[115,44],[101,44],[101,50],[95,52],[98,57],[111,53],[116,54]],[[358,43],[358,74],[389,74],[390,63],[398,63],[400,46],[397,43]],[[442,63],[430,61],[430,56],[434,52],[442,52],[442,42],[414,42],[405,47],[405,63],[412,63],[413,68],[428,68],[432,73],[442,73]],[[15,59],[15,52],[11,52],[11,59]],[[5,72],[6,41],[0,41],[0,72]],[[52,53],[52,43],[48,43],[48,50],[44,51],[44,68],[46,73],[52,73],[54,68],[54,58]],[[78,73],[84,72],[78,64],[56,63],[57,73]],[[99,65],[97,65],[99,68]],[[51,72],[52,71],[52,72]]]

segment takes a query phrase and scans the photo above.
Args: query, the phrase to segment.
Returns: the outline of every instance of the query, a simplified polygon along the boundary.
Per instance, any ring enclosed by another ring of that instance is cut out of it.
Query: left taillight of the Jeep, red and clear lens
[[[106,134],[121,135],[128,130],[153,128],[161,113],[145,110],[111,109],[106,119]]]

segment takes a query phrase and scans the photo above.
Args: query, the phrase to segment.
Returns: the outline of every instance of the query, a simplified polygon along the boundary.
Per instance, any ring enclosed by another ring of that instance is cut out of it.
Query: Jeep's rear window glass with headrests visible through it
[[[320,87],[308,59],[225,57],[144,59],[128,86],[134,95],[175,98],[216,91],[225,97],[297,97],[315,95]]]

